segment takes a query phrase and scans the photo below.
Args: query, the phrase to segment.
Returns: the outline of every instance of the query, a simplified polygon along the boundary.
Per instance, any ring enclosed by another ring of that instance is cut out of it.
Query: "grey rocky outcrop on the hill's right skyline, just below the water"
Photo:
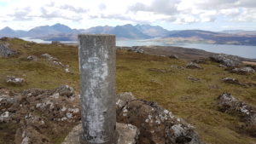
[[[221,63],[224,66],[229,66],[229,67],[235,67],[241,64],[240,58],[234,55],[218,54],[218,55],[212,55],[210,59],[215,62]]]

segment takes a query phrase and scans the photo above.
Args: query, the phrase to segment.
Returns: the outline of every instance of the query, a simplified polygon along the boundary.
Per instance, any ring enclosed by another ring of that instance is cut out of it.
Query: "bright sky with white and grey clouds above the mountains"
[[[256,0],[0,0],[0,29],[149,24],[167,30],[256,31]]]

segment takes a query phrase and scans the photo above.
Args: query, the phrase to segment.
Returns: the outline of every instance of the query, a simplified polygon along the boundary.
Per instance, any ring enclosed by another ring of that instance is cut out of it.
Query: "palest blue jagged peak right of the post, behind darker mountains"
[[[161,26],[137,25],[135,27],[137,30],[150,37],[165,37],[170,33],[170,31],[162,28]]]

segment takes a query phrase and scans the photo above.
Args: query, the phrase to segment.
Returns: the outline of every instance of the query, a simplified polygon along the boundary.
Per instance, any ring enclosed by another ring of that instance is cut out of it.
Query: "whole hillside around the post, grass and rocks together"
[[[80,123],[78,49],[0,44],[0,143],[61,143]],[[163,49],[117,50],[117,120],[138,143],[255,143],[253,60]]]

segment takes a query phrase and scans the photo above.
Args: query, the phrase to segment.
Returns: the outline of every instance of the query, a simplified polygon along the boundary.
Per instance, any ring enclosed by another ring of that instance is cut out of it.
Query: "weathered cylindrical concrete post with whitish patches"
[[[115,135],[115,36],[79,35],[82,143],[112,144]]]

